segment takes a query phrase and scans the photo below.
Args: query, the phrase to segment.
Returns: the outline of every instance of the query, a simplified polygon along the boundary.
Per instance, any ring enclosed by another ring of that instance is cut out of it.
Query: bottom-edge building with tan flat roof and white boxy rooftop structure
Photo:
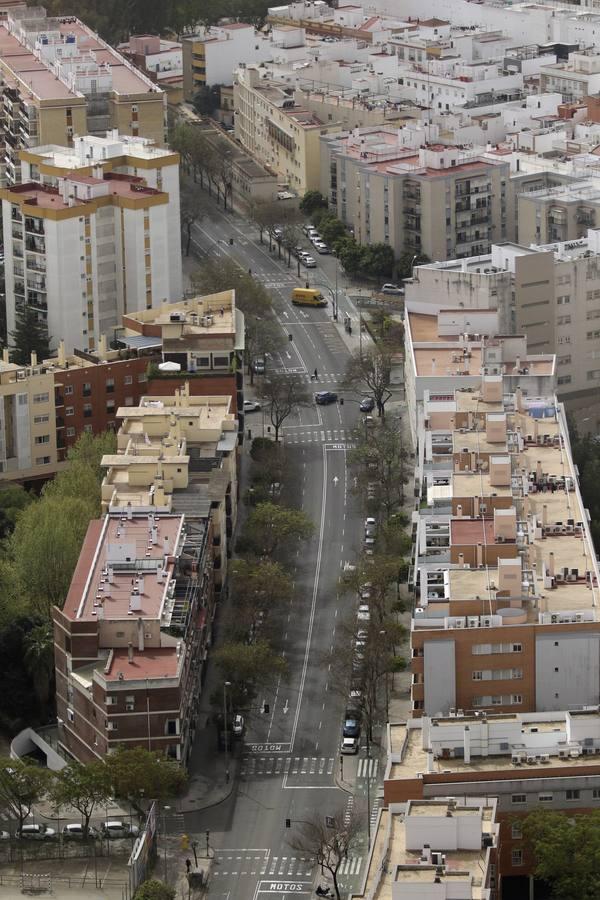
[[[496,900],[497,804],[483,797],[411,797],[380,810],[354,900]],[[344,864],[342,863],[342,866]]]

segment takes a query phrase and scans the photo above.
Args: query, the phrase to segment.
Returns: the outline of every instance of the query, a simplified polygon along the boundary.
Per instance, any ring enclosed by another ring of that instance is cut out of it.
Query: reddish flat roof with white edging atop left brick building
[[[88,529],[64,606],[74,619],[158,619],[166,600],[182,516],[106,516]],[[167,577],[159,573],[166,571]],[[140,578],[140,573],[142,577]],[[112,580],[111,580],[112,577]]]

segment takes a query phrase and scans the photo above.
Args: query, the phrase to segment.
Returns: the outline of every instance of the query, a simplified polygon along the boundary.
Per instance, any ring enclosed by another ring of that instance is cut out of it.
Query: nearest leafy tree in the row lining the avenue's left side
[[[266,640],[254,643],[227,641],[213,654],[213,660],[223,681],[229,682],[232,709],[247,709],[259,691],[271,688],[278,678],[287,678],[288,664]],[[221,709],[222,690],[211,698],[213,706]]]

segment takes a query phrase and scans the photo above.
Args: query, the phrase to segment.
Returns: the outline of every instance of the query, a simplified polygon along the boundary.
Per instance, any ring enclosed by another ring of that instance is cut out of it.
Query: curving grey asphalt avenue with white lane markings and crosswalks
[[[199,253],[227,253],[244,268],[251,268],[278,299],[279,321],[293,341],[268,365],[303,375],[311,390],[335,390],[352,342],[343,335],[343,326],[332,321],[331,306],[326,310],[292,306],[292,287],[304,283],[298,280],[296,268],[287,269],[276,253],[269,254],[252,227],[239,217],[216,209],[211,208],[210,222],[195,226],[193,239]],[[320,257],[319,268],[310,273],[310,283],[333,287],[335,265],[332,258]],[[358,316],[344,295],[340,295],[339,308],[339,322],[344,313],[350,315],[356,336]],[[316,384],[309,376],[315,368],[319,373]],[[339,642],[348,640],[343,622],[352,618],[352,603],[339,596],[338,581],[344,563],[358,554],[362,539],[361,512],[349,489],[346,468],[348,442],[357,417],[356,398],[354,402],[348,398],[343,406],[315,405],[299,410],[284,427],[288,457],[299,473],[295,487],[302,508],[314,522],[315,534],[298,551],[295,595],[282,617],[290,677],[263,698],[269,703],[269,714],[254,716],[250,722],[239,783],[230,799],[211,810],[190,814],[186,822],[191,832],[211,832],[216,854],[211,898],[314,896],[319,873],[312,860],[290,849],[286,819],[292,820],[293,828],[294,822],[315,811],[322,815],[340,809],[349,812],[355,804],[364,807],[366,829],[369,810],[360,797],[360,785],[364,787],[365,778],[375,775],[375,761],[368,769],[366,761],[345,758],[344,778],[356,779],[356,799],[336,786],[346,703],[330,684],[328,662]],[[252,427],[252,421],[248,416],[246,426]],[[344,863],[348,887],[356,884],[365,852],[363,847]]]

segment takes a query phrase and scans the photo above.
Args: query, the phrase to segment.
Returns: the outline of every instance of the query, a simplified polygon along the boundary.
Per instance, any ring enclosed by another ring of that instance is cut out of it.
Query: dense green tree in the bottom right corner
[[[522,823],[535,858],[535,875],[552,900],[599,900],[600,810],[566,815],[536,810]]]

